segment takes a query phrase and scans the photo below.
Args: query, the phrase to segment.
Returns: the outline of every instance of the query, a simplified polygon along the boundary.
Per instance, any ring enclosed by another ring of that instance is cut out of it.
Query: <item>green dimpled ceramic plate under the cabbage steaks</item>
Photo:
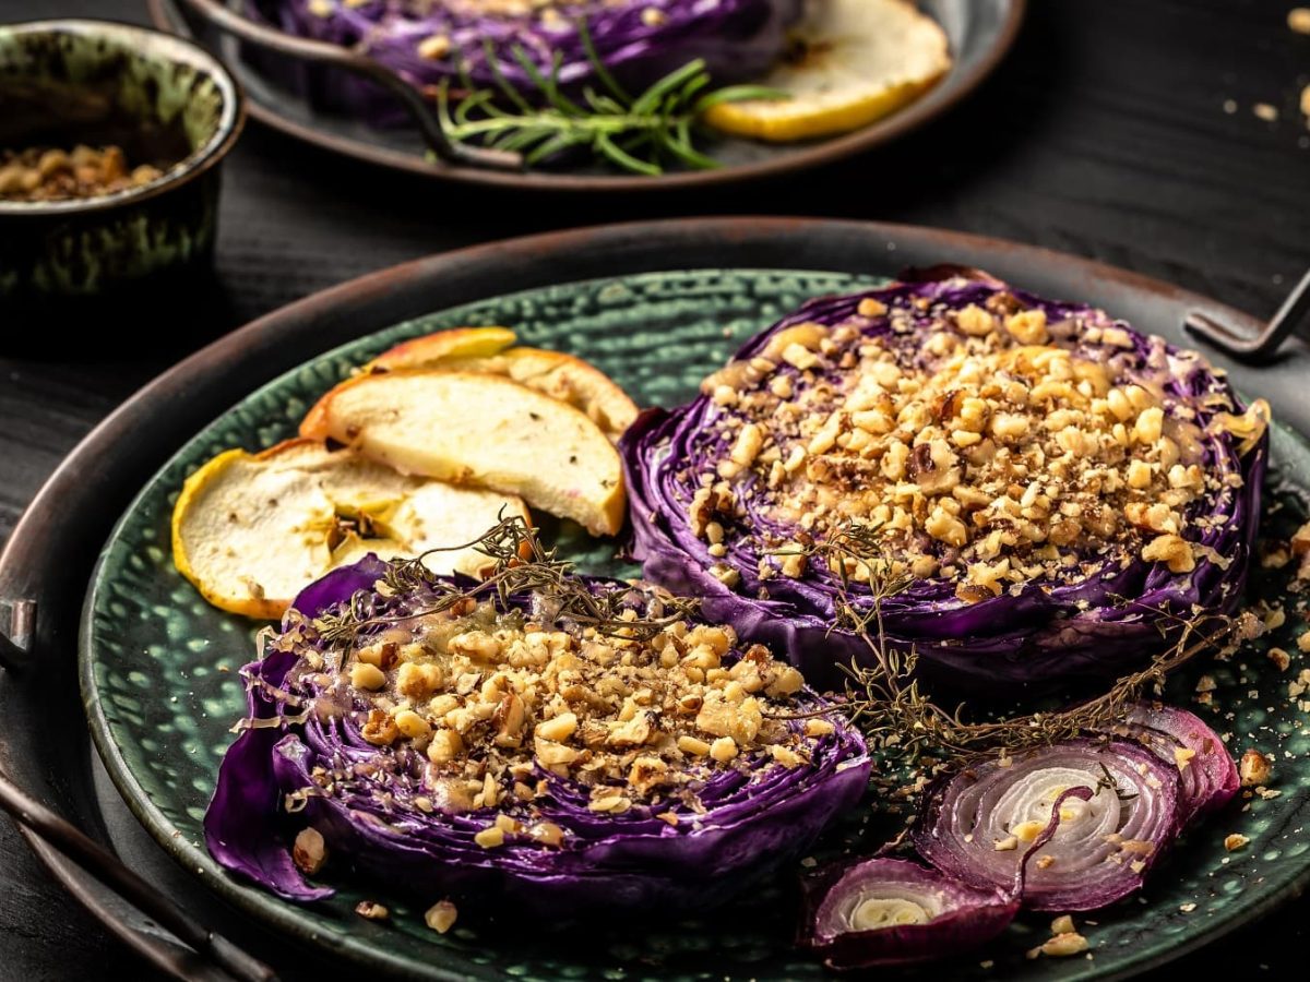
[[[258,449],[295,433],[310,403],[329,386],[389,344],[460,325],[514,326],[524,343],[583,355],[618,380],[643,405],[673,405],[745,336],[803,300],[871,280],[790,271],[651,274],[591,280],[499,297],[445,310],[331,351],[266,385],[233,406],[186,444],[151,481],[119,521],[97,567],[81,638],[81,680],[92,733],[109,773],[155,838],[212,889],[266,923],[333,955],[430,978],[629,979],[820,978],[824,972],[790,945],[790,877],[766,884],[730,909],[703,919],[667,919],[608,932],[552,932],[542,926],[460,923],[439,936],[422,909],[388,898],[393,923],[352,913],[376,889],[347,884],[337,898],[297,907],[231,880],[200,845],[200,821],[228,728],[244,712],[236,669],[254,653],[257,623],[206,604],[173,568],[169,515],[182,481],[219,450]],[[1297,435],[1275,435],[1279,508],[1267,534],[1285,538],[1305,517],[1297,488],[1310,487],[1310,446]],[[612,542],[576,529],[549,529],[590,572],[618,572]],[[1048,936],[1047,919],[1026,917],[988,949],[950,965],[959,977],[1103,978],[1127,974],[1203,944],[1221,926],[1254,917],[1310,875],[1310,837],[1296,812],[1310,795],[1306,714],[1288,697],[1303,665],[1296,632],[1301,601],[1288,571],[1260,570],[1252,596],[1286,602],[1286,623],[1222,665],[1197,666],[1178,678],[1174,699],[1192,698],[1196,676],[1218,680],[1221,712],[1208,712],[1241,753],[1256,746],[1276,758],[1276,797],[1235,803],[1188,838],[1155,868],[1145,893],[1079,918],[1093,953],[1073,960],[1024,958]],[[1280,672],[1267,657],[1276,644],[1292,653]],[[883,841],[878,822],[852,816],[823,843],[823,852],[870,848]],[[1227,852],[1229,833],[1250,837]],[[439,900],[434,890],[432,900]]]

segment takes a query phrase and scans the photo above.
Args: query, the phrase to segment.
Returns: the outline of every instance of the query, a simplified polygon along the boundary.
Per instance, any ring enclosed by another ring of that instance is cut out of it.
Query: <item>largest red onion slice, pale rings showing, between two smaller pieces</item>
[[[1077,788],[1085,791],[1070,793]],[[925,800],[914,846],[977,889],[1011,889],[1032,851],[1024,906],[1095,910],[1141,886],[1178,834],[1178,803],[1176,766],[1133,741],[1076,738],[939,783]],[[1049,841],[1032,850],[1047,833]]]

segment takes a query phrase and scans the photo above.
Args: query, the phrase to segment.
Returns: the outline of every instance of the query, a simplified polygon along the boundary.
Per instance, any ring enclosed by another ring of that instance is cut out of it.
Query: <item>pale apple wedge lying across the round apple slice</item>
[[[329,391],[300,435],[331,439],[406,474],[483,484],[597,536],[624,524],[617,450],[583,412],[494,374],[363,374]]]

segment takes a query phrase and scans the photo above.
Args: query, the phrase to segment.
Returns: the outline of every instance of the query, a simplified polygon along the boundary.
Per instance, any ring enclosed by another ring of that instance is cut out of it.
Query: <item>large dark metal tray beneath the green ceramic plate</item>
[[[265,957],[271,957],[279,969],[296,974],[297,968],[312,965],[312,960],[305,961],[301,955],[292,956],[284,944],[270,940],[267,934],[250,922],[233,918],[196,882],[194,867],[183,871],[169,862],[165,851],[156,847],[127,813],[114,790],[103,780],[97,783],[85,744],[42,738],[43,733],[52,729],[73,732],[81,725],[81,708],[73,694],[76,674],[72,656],[77,610],[83,601],[80,584],[85,583],[84,577],[96,559],[97,543],[103,541],[110,524],[151,474],[173,456],[176,448],[224,414],[236,399],[296,368],[305,359],[411,318],[500,297],[506,291],[546,288],[538,296],[550,296],[552,291],[558,293],[558,284],[660,270],[803,267],[829,274],[891,275],[907,264],[924,266],[939,261],[980,266],[1039,292],[1091,301],[1174,340],[1183,340],[1178,325],[1183,314],[1193,308],[1230,318],[1238,326],[1255,327],[1251,318],[1203,297],[1044,250],[925,229],[838,221],[707,219],[621,225],[494,244],[375,274],[300,301],[187,359],[117,411],[51,478],[0,558],[0,597],[37,597],[41,601],[37,657],[28,672],[0,682],[0,711],[7,714],[0,762],[9,774],[52,807],[93,834],[110,841],[134,867],[159,882],[161,890],[223,927],[229,935],[250,944]],[[757,274],[752,274],[755,275]],[[718,279],[693,278],[705,282],[710,293],[715,292]],[[785,297],[790,302],[798,292],[823,289],[827,288],[824,284],[840,280],[840,276],[795,276],[778,301]],[[693,302],[688,316],[694,317],[694,310]],[[724,326],[762,314],[764,308],[745,304],[728,314],[731,323]],[[597,340],[604,342],[604,338]],[[1305,377],[1307,360],[1310,352],[1296,343],[1281,361],[1259,373],[1229,367],[1239,386],[1268,397],[1285,422],[1305,429],[1310,423],[1310,406],[1297,393],[1298,377]],[[330,373],[320,378],[322,385],[329,381]],[[228,423],[233,420],[241,420],[241,414],[227,418]],[[254,433],[254,439],[265,439],[258,432],[258,419],[248,419],[241,426],[253,427],[245,432]],[[267,437],[274,435],[269,431]],[[1279,456],[1282,461],[1294,465],[1302,452],[1300,439],[1284,432],[1280,435],[1280,446],[1282,449]],[[1293,478],[1298,484],[1305,481],[1303,473]],[[131,661],[141,655],[124,651],[122,657]],[[123,672],[132,670],[126,664],[118,668]],[[172,693],[160,693],[159,698],[166,700],[169,694]],[[1272,690],[1267,698],[1272,704]],[[1243,710],[1247,711],[1256,712],[1254,707]],[[1243,719],[1254,720],[1255,716]],[[1273,724],[1280,719],[1271,715],[1267,721]],[[207,724],[195,720],[195,725]],[[105,736],[103,731],[101,736]],[[141,757],[141,746],[119,749]],[[1289,749],[1300,753],[1300,748]],[[182,740],[164,741],[157,752],[145,754],[144,758],[148,766],[152,761],[168,766],[169,759],[176,761],[176,755],[185,753]],[[113,750],[110,761],[111,769],[123,780],[124,773],[114,759]],[[131,787],[131,782],[126,784]],[[1303,885],[1307,871],[1305,842],[1298,842],[1294,837],[1292,841],[1284,839],[1301,827],[1310,812],[1305,792],[1293,792],[1290,779],[1286,787],[1288,792],[1282,799],[1258,803],[1262,808],[1254,809],[1251,816],[1238,818],[1234,814],[1233,821],[1241,821],[1241,826],[1208,826],[1199,841],[1188,846],[1188,850],[1200,850],[1199,852],[1180,852],[1174,863],[1162,868],[1158,875],[1159,890],[1157,893],[1153,886],[1153,893],[1149,894],[1161,900],[1142,907],[1151,911],[1150,922],[1141,920],[1144,915],[1136,914],[1132,907],[1116,911],[1114,922],[1121,924],[1123,931],[1107,931],[1100,936],[1104,949],[1098,948],[1096,961],[1032,965],[1020,958],[1018,964],[1024,965],[1026,972],[1058,970],[1061,975],[1132,973],[1213,940],[1286,898]],[[203,805],[203,791],[198,790],[196,793]],[[140,799],[134,801],[135,810],[143,814],[151,807],[152,803]],[[161,827],[164,826],[156,826],[157,834]],[[1234,856],[1230,864],[1224,864],[1222,856],[1214,852],[1214,843],[1210,841],[1213,835],[1208,833],[1221,835],[1238,827],[1247,834],[1258,833],[1262,850]],[[166,838],[170,839],[169,851],[176,855],[187,860],[198,855],[191,851],[193,846],[185,835],[181,839],[173,839],[172,835]],[[160,941],[151,936],[149,928],[139,918],[107,901],[66,860],[43,848],[38,848],[38,855],[115,931],[147,953],[159,955]],[[1187,856],[1192,856],[1191,863]],[[1209,872],[1216,872],[1216,877],[1209,877]],[[208,873],[202,879],[241,906],[261,909],[261,914],[267,917],[265,907],[269,901],[263,894],[227,880],[214,880]],[[1172,903],[1175,892],[1184,888],[1189,901],[1200,905],[1192,918],[1184,917],[1178,905]],[[291,922],[303,923],[304,917],[303,913],[282,909],[271,920],[291,927]],[[331,918],[333,914],[317,913],[313,917]],[[350,926],[347,923],[339,927]],[[1146,930],[1145,935],[1142,928]],[[325,939],[341,935],[341,931],[321,934],[316,941],[322,944]],[[347,930],[345,935],[354,935],[354,931]],[[504,955],[496,956],[473,939],[456,941],[456,951],[426,945],[431,960],[427,966],[430,973],[460,974],[477,970],[473,968],[477,964],[474,958],[512,958],[515,951],[506,951],[504,943],[498,941],[498,951]],[[383,951],[389,951],[390,943],[392,939],[386,939]],[[337,941],[331,944],[341,949]],[[426,943],[414,937],[403,944]],[[351,947],[342,951],[354,953],[348,951]],[[600,958],[607,958],[608,968],[613,972],[622,968],[621,961],[643,955],[648,952],[614,951],[607,944],[604,952],[586,956],[557,952],[569,964],[555,961],[553,965],[575,972],[578,969],[574,968],[574,960],[583,958],[588,966],[586,974],[591,974],[591,966]],[[364,952],[362,957],[372,956]],[[397,968],[396,960],[401,957],[405,957],[403,952],[392,955],[393,968]],[[700,968],[705,969],[710,962],[719,964],[710,958],[701,962]],[[799,960],[779,964],[781,970],[777,964],[770,962],[769,972],[765,973],[765,965],[752,965],[744,958],[734,957],[735,968],[731,972],[790,977],[806,966]],[[976,962],[968,964],[976,966]],[[525,965],[511,960],[499,966],[528,974],[550,974],[550,966],[541,961]],[[411,961],[402,970],[415,968],[422,966],[415,966]]]

